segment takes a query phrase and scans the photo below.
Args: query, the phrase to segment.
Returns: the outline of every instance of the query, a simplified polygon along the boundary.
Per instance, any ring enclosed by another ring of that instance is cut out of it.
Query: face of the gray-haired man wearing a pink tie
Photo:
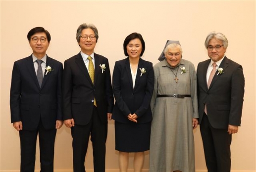
[[[209,41],[207,52],[208,56],[212,61],[219,61],[225,54],[227,48],[224,48],[222,41],[219,41],[215,38]]]

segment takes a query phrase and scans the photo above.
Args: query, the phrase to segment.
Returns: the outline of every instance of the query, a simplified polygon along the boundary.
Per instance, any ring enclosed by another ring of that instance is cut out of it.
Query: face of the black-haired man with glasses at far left
[[[33,54],[36,57],[40,57],[46,54],[46,50],[48,49],[50,43],[47,40],[46,33],[38,32],[32,35],[29,44],[33,50]]]

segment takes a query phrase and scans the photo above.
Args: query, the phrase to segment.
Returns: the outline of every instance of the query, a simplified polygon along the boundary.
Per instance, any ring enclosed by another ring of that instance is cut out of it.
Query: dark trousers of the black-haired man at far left
[[[37,135],[40,146],[40,172],[53,172],[54,142],[56,129],[44,129],[40,122],[36,130],[20,130],[20,172],[34,172]]]

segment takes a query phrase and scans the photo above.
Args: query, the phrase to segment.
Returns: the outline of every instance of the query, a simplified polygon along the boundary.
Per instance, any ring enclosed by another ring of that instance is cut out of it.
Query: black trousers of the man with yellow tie
[[[105,172],[107,123],[102,124],[100,121],[97,107],[94,107],[93,117],[89,124],[85,126],[75,124],[75,126],[71,128],[71,134],[73,137],[74,172],[85,172],[85,156],[90,134],[93,143],[94,172]]]

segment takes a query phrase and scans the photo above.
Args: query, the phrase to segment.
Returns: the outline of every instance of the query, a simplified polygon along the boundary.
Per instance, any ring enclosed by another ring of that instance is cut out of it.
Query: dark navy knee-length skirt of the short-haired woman
[[[115,121],[115,150],[144,152],[150,149],[151,122],[123,124]]]

